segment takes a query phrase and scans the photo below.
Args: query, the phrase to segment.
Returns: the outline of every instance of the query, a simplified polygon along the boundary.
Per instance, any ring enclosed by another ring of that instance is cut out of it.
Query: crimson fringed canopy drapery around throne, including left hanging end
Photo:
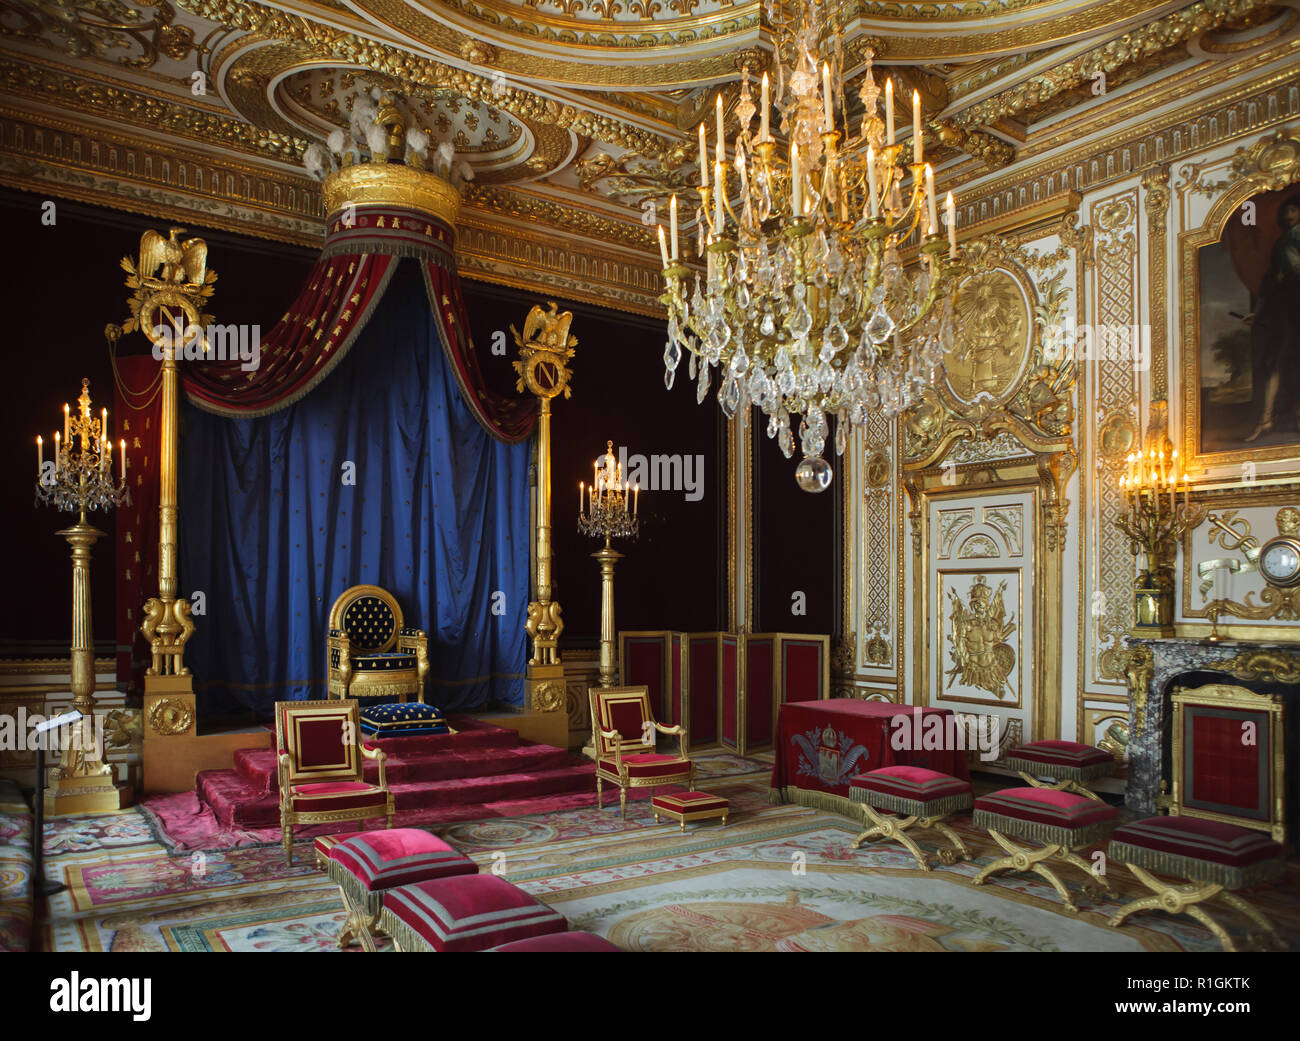
[[[257,337],[256,366],[246,369],[238,355],[230,356],[226,360],[182,363],[186,398],[230,418],[269,416],[302,400],[347,356],[406,257],[421,268],[437,339],[463,403],[493,439],[511,444],[526,439],[536,425],[537,403],[530,396],[504,398],[485,385],[469,337],[454,242],[451,227],[416,211],[369,204],[356,207],[351,221],[335,214],[306,286],[283,318]],[[229,326],[216,333],[209,337],[213,346],[237,342]],[[246,347],[250,335],[243,331]],[[148,356],[121,359],[118,365],[117,421],[133,447],[136,470],[130,481],[135,508],[124,511],[117,525],[118,574],[124,577],[117,603],[118,680],[134,693],[142,690],[150,662],[138,632],[139,606],[157,591],[157,368]],[[181,509],[183,524],[183,502]],[[196,621],[204,624],[202,617]]]

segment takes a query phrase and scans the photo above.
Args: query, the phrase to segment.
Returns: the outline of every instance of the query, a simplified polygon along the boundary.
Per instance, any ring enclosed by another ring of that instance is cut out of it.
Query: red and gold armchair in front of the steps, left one
[[[352,698],[276,702],[280,827],[290,864],[294,863],[295,824],[385,817],[386,827],[393,827],[393,793],[384,768],[386,756],[381,749],[361,743],[360,728],[360,711]],[[363,758],[378,762],[378,785],[365,782]]]

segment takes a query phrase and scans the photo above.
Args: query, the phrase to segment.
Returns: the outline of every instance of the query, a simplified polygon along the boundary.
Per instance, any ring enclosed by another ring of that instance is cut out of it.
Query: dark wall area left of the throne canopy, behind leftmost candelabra
[[[113,374],[104,326],[121,325],[130,291],[118,261],[135,256],[140,234],[165,221],[55,200],[55,224],[42,222],[46,196],[0,192],[9,268],[4,276],[5,407],[0,409],[0,457],[9,480],[0,487],[4,516],[4,576],[0,598],[0,655],[51,656],[68,652],[72,638],[72,563],[55,533],[75,521],[53,507],[34,507],[36,434],[48,442],[62,428],[64,403],[73,404],[90,378],[95,409],[113,408]],[[212,313],[220,322],[269,329],[302,286],[312,250],[231,235],[196,224],[191,234],[208,243],[217,272]],[[122,353],[148,350],[134,333]],[[73,404],[75,408],[75,404]],[[114,460],[116,463],[116,460]],[[113,647],[113,513],[87,520],[105,532],[91,565],[92,626],[99,654]]]

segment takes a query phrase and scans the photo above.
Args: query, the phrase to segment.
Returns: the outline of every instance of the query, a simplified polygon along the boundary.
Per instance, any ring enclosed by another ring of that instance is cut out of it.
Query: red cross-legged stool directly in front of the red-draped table
[[[907,847],[922,871],[930,871],[930,859],[906,832],[913,827],[932,828],[954,846],[939,851],[940,863],[971,859],[961,836],[944,824],[958,810],[970,810],[970,781],[924,767],[881,767],[859,773],[849,784],[849,798],[862,804],[862,814],[871,825],[853,841],[853,849],[862,849],[868,838],[890,838]]]

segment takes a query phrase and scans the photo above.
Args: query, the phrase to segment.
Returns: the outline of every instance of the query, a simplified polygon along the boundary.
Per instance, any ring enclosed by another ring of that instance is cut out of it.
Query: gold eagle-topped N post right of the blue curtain
[[[577,337],[569,335],[572,312],[558,313],[533,307],[524,320],[523,334],[512,325],[519,360],[511,363],[519,374],[515,389],[537,395],[537,589],[528,604],[524,629],[533,641],[528,659],[528,711],[564,710],[564,665],[560,663],[559,636],[564,632],[560,606],[551,599],[551,399],[569,390],[568,360]]]

